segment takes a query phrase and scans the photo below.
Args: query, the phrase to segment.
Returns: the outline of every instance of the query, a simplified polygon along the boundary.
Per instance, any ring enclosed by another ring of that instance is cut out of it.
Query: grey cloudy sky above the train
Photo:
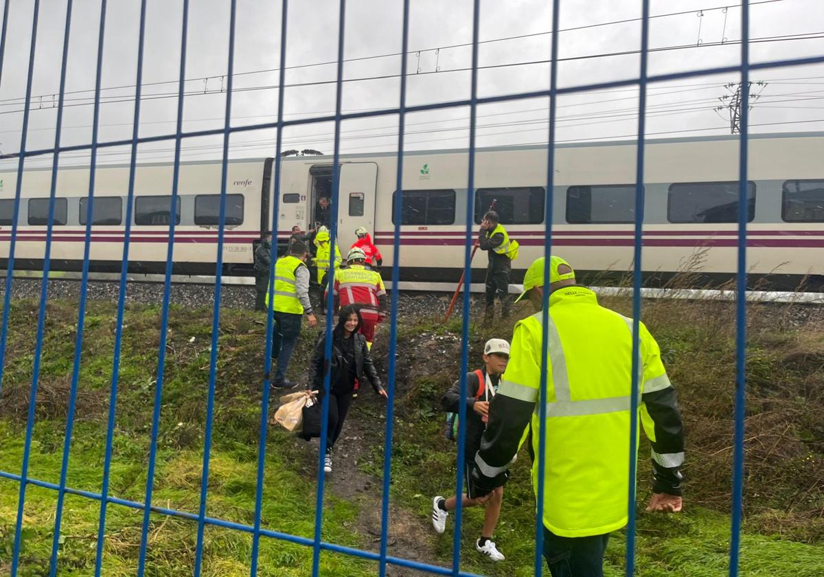
[[[17,152],[26,94],[34,0],[10,0],[7,44],[0,77],[0,149]],[[146,49],[143,59],[143,101],[140,135],[175,130],[177,79],[180,71],[182,0],[147,2]],[[413,0],[410,12],[410,105],[452,101],[470,95],[471,73],[450,72],[471,67],[471,0]],[[63,144],[91,142],[99,0],[75,0],[69,40]],[[224,122],[227,47],[227,0],[191,0],[186,59],[183,129],[221,128]],[[741,9],[723,10],[723,0],[651,0],[649,73],[736,64],[740,59]],[[138,0],[109,2],[100,113],[101,141],[130,138],[133,122]],[[232,96],[232,124],[276,119],[280,58],[279,2],[238,0]],[[559,86],[608,82],[638,75],[640,0],[564,0],[559,35]],[[703,11],[703,12],[702,12]],[[40,2],[40,21],[32,82],[32,107],[26,148],[54,147],[56,102],[63,50],[66,4]],[[480,3],[480,67],[547,60],[550,56],[551,2],[546,0],[483,0]],[[339,3],[336,0],[291,2],[284,115],[295,119],[335,110],[335,77]],[[397,106],[400,92],[402,2],[349,0],[344,34],[344,110]],[[618,23],[619,21],[622,21]],[[612,23],[611,23],[612,22]],[[611,24],[606,24],[611,23]],[[604,26],[593,26],[601,25]],[[584,27],[588,26],[588,27]],[[824,54],[824,2],[821,0],[754,0],[751,2],[751,60],[761,62]],[[524,36],[513,40],[499,40]],[[813,38],[807,38],[812,36]],[[780,41],[761,41],[773,39]],[[761,39],[761,40],[760,40]],[[492,40],[492,41],[490,41]],[[499,40],[499,41],[495,41]],[[720,45],[722,40],[724,45]],[[700,44],[700,45],[699,45]],[[455,46],[464,45],[464,46]],[[436,53],[436,49],[439,49]],[[419,51],[419,52],[418,52]],[[384,58],[371,58],[391,54]],[[588,58],[582,58],[588,57]],[[353,60],[358,59],[358,60]],[[331,63],[330,63],[331,62]],[[298,68],[299,67],[299,68]],[[436,67],[439,71],[436,71]],[[265,72],[255,72],[265,71]],[[386,77],[388,76],[388,77]],[[366,77],[386,77],[357,80]],[[482,68],[479,96],[542,90],[549,87],[548,63]],[[725,115],[713,110],[729,94],[724,84],[736,74],[694,77],[652,84],[648,90],[647,132],[650,138],[670,135],[726,134]],[[824,130],[824,66],[776,68],[751,73],[761,94],[751,112],[752,130],[799,132]],[[304,86],[293,86],[302,84]],[[559,142],[627,138],[637,130],[638,91],[634,87],[561,96],[558,99]],[[478,108],[478,146],[540,143],[547,136],[547,99],[531,99]],[[724,116],[724,117],[722,117]],[[406,148],[466,148],[469,110],[466,106],[407,116]],[[773,124],[780,123],[780,124]],[[757,125],[764,124],[764,125]],[[349,120],[341,127],[341,152],[396,150],[397,116]],[[332,152],[332,123],[307,124],[284,130],[283,148],[316,148]],[[274,155],[274,129],[232,136],[231,157]],[[188,138],[184,159],[219,158],[222,137]],[[139,160],[172,158],[171,141],[145,144]],[[128,148],[102,149],[99,162],[124,162]],[[67,152],[64,164],[87,162],[87,152]],[[30,166],[50,163],[33,159]],[[15,160],[0,169],[15,168]]]

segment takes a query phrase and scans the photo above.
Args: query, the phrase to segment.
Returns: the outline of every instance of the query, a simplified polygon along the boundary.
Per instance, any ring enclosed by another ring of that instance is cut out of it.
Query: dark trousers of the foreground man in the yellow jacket
[[[559,537],[544,528],[544,559],[552,577],[603,577],[610,534]]]

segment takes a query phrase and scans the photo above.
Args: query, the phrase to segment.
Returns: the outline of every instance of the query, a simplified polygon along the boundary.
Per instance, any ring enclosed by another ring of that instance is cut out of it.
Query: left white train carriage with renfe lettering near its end
[[[272,159],[232,161],[227,171],[223,265],[229,274],[249,270],[252,243],[260,238],[261,213],[271,191]],[[178,199],[171,210],[174,166],[142,164],[134,176],[129,270],[165,272],[169,224],[175,220],[174,274],[214,274],[218,246],[220,162],[180,164]],[[21,183],[15,270],[43,270],[49,215],[50,168],[26,170]],[[0,257],[7,267],[12,237],[16,172],[0,173]],[[51,268],[82,268],[89,195],[88,167],[58,172]],[[91,217],[91,265],[97,273],[119,272],[123,260],[129,166],[97,167]]]

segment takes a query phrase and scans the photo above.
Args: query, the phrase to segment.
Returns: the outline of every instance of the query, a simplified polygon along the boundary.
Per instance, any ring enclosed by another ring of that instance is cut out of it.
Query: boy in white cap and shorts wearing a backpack
[[[460,381],[456,381],[442,397],[441,407],[447,413],[447,439],[457,441],[458,427],[456,413],[461,408],[461,402],[466,402],[466,449],[464,462],[458,463],[463,467],[464,490],[461,495],[464,507],[485,506],[484,527],[480,539],[475,541],[475,550],[488,556],[492,561],[503,561],[504,557],[492,541],[495,525],[501,512],[503,502],[503,486],[495,489],[488,499],[478,500],[472,495],[470,473],[472,460],[480,449],[480,438],[486,429],[489,415],[489,401],[498,390],[501,375],[507,368],[509,360],[509,343],[503,339],[490,339],[484,346],[484,367],[466,374],[466,399],[461,399]],[[455,509],[456,497],[444,499],[441,495],[432,501],[432,525],[436,532],[442,533],[446,528],[449,511]]]

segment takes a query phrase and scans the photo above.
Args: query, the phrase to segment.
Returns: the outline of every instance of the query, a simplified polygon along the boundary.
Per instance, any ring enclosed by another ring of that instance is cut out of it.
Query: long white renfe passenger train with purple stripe
[[[739,148],[737,135],[645,142],[644,284],[688,278],[706,286],[733,278]],[[251,274],[255,243],[272,227],[275,206],[277,239],[283,245],[293,226],[312,226],[318,199],[328,196],[338,205],[337,239],[344,256],[355,241],[355,229],[363,226],[382,251],[384,270],[393,265],[393,214],[400,198],[401,289],[454,288],[464,267],[467,219],[476,230],[493,200],[501,223],[521,246],[513,261],[513,284],[543,254],[549,202],[553,251],[569,260],[583,281],[617,282],[633,268],[637,150],[634,140],[556,144],[548,194],[546,145],[477,148],[471,210],[468,150],[405,152],[400,195],[396,152],[340,155],[338,190],[333,190],[330,156],[283,157],[279,186],[274,158],[232,159],[226,176],[222,274]],[[748,151],[748,284],[824,290],[824,133],[751,134]],[[222,162],[180,162],[176,208],[171,210],[173,175],[172,163],[136,167],[129,273],[166,270],[174,220],[172,273],[214,275]],[[7,268],[18,178],[14,268],[43,270],[50,168],[26,169],[21,175],[0,172],[0,265]],[[89,181],[88,167],[59,168],[51,270],[82,269]],[[119,272],[129,165],[97,166],[94,185],[90,270]],[[486,256],[476,256],[475,284],[483,282],[485,266]]]

